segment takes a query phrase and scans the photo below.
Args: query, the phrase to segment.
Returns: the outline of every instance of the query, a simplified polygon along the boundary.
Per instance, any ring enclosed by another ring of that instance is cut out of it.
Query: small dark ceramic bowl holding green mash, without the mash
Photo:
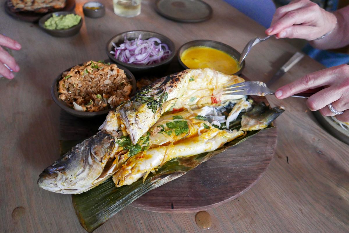
[[[45,16],[43,16],[40,20],[39,20],[39,27],[41,29],[43,29],[45,32],[47,32],[48,34],[50,34],[51,36],[56,36],[56,37],[69,37],[69,36],[74,36],[75,34],[77,34],[80,31],[80,28],[82,26],[82,17],[81,20],[78,24],[76,24],[75,26],[68,28],[68,29],[63,29],[63,30],[51,30],[51,29],[47,29],[45,28],[45,22],[46,20],[50,19],[52,17],[52,15],[67,15],[67,14],[74,14],[73,12],[68,12],[68,11],[61,11],[61,12],[54,12],[54,13],[50,13],[47,14]]]

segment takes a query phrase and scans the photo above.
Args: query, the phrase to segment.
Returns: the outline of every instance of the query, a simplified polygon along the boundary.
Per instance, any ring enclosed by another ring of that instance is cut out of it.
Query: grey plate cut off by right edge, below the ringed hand
[[[324,117],[319,111],[314,112],[315,118],[319,123],[332,134],[333,137],[341,140],[349,145],[349,130],[343,129],[340,125],[333,121],[331,117]]]

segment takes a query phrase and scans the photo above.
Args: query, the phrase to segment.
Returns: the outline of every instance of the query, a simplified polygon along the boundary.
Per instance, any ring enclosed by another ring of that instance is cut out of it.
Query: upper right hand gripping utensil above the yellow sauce
[[[309,0],[295,0],[276,9],[272,24],[265,32],[276,38],[312,41],[336,27],[336,16]]]

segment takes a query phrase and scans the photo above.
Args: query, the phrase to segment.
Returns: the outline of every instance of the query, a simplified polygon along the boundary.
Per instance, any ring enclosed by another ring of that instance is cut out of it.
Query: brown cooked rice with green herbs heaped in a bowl
[[[62,74],[59,98],[75,110],[96,112],[129,99],[131,81],[116,64],[88,61]]]

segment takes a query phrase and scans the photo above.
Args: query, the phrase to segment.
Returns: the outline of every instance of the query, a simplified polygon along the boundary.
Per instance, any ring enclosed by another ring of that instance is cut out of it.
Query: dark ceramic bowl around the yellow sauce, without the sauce
[[[210,47],[213,49],[218,49],[218,50],[221,50],[225,53],[228,53],[231,57],[235,58],[238,62],[240,59],[240,52],[227,44],[223,44],[223,43],[217,42],[217,41],[203,40],[203,39],[197,40],[197,41],[190,41],[190,42],[187,42],[184,45],[180,46],[178,53],[177,53],[178,61],[184,69],[188,69],[189,67],[184,65],[184,63],[180,57],[182,56],[182,53],[186,49],[189,49],[189,48],[194,47],[194,46],[206,46],[206,47]],[[240,70],[238,72],[236,72],[235,75],[240,75],[242,73],[242,71],[244,70],[244,68],[245,68],[245,60],[242,62]]]

